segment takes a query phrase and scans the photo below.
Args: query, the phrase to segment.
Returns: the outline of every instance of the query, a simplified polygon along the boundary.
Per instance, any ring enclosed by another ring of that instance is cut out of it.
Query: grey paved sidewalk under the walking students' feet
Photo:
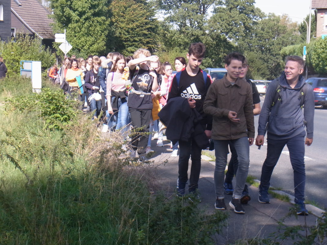
[[[151,166],[155,168],[156,174],[158,175],[158,183],[166,193],[166,196],[174,198],[174,191],[178,178],[178,157],[171,157],[172,150],[169,148],[168,141],[164,141],[164,143],[166,143],[164,147],[152,147],[155,154],[151,158],[151,160],[154,161]],[[152,145],[155,145],[154,141]],[[203,156],[203,158],[206,158],[206,156]],[[293,204],[273,198],[271,195],[270,204],[261,204],[258,202],[258,188],[249,186],[251,201],[249,204],[244,204],[244,215],[234,213],[232,208],[229,206],[229,202],[232,199],[231,195],[225,195],[227,210],[218,211],[214,207],[214,169],[214,163],[202,159],[199,179],[201,203],[198,206],[204,208],[209,214],[213,212],[227,212],[229,214],[227,227],[223,229],[221,235],[216,237],[216,244],[233,243],[237,239],[254,237],[264,238],[272,232],[277,231],[277,221],[281,220],[288,214],[289,209],[293,207]],[[287,226],[295,226],[304,225],[306,222],[308,226],[311,226],[315,225],[316,219],[317,217],[313,214],[309,214],[309,216],[291,216],[285,219],[284,224]],[[289,244],[293,244],[293,242]]]

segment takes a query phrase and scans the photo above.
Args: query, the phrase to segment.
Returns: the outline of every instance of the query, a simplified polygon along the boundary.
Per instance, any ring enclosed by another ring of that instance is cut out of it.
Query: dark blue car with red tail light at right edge
[[[305,82],[313,87],[315,106],[327,106],[327,78],[312,77]]]

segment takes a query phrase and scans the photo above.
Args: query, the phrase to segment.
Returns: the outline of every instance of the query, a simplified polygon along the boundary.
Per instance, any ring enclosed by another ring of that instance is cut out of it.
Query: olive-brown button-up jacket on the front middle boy
[[[233,86],[226,75],[214,81],[207,92],[203,111],[213,116],[212,139],[254,138],[252,88],[245,79],[236,79]],[[229,111],[235,111],[240,120],[232,122],[228,118]]]

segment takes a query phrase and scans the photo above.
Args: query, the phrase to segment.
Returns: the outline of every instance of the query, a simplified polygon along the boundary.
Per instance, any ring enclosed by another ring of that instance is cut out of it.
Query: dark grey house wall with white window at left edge
[[[11,36],[11,0],[0,0],[0,41],[8,41]]]

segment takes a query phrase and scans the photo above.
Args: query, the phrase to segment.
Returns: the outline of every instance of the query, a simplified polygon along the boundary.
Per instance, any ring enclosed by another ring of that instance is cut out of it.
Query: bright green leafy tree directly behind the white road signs
[[[54,30],[62,33],[80,55],[102,54],[110,33],[110,16],[106,0],[52,0]],[[72,53],[72,52],[71,52]]]

